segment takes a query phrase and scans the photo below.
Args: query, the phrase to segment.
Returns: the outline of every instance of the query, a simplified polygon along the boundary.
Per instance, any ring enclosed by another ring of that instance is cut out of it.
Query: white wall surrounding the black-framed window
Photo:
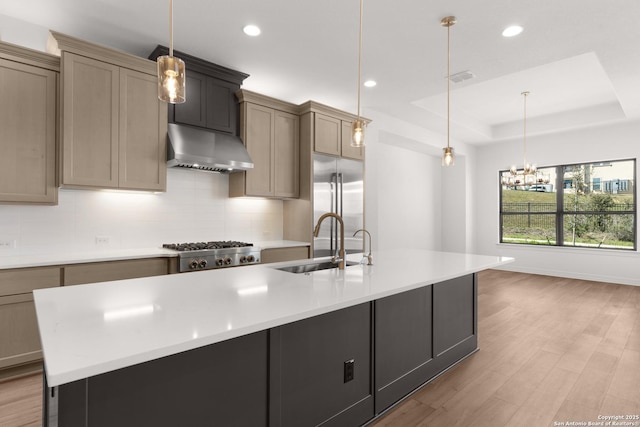
[[[640,285],[640,253],[637,251],[498,243],[498,170],[508,169],[522,159],[522,150],[521,139],[477,150],[474,190],[481,199],[474,209],[475,252],[515,257],[516,261],[505,267],[514,271]],[[527,160],[538,166],[639,157],[640,122],[637,121],[527,138]]]

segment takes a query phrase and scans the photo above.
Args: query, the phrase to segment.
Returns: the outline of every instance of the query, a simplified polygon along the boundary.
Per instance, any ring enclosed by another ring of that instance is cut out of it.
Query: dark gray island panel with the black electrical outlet
[[[271,330],[270,426],[359,426],[373,417],[371,304]]]

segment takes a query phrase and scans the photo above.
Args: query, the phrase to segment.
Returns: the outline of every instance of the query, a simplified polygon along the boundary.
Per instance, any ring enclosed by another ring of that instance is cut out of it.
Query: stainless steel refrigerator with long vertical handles
[[[327,212],[337,213],[344,222],[345,252],[362,252],[364,227],[364,165],[362,161],[313,155],[313,223]],[[338,221],[327,218],[313,241],[313,256],[333,256],[340,244]]]

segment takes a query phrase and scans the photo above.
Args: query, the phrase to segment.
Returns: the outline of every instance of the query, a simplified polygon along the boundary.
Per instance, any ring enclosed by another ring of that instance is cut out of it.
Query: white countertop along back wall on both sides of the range
[[[287,248],[309,246],[310,243],[293,240],[269,240],[256,242],[254,246],[260,249]],[[58,251],[52,253],[21,254],[0,256],[0,270],[9,268],[43,267],[50,265],[81,264],[86,262],[118,261],[125,259],[177,257],[178,252],[157,248],[87,250],[87,251]]]

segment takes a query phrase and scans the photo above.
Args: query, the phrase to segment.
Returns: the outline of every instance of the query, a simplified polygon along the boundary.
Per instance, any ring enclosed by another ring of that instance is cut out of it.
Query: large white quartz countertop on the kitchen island
[[[359,261],[360,254],[351,255]],[[512,258],[374,252],[374,265],[294,274],[254,265],[38,289],[49,386],[497,267]],[[305,260],[313,262],[313,260]]]

